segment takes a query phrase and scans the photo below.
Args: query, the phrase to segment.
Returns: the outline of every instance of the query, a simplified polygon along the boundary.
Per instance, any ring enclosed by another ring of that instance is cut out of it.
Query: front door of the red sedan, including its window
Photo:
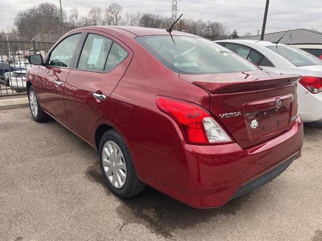
[[[55,45],[45,64],[39,67],[36,79],[41,106],[64,125],[67,119],[62,93],[81,36],[82,33],[69,35]]]

